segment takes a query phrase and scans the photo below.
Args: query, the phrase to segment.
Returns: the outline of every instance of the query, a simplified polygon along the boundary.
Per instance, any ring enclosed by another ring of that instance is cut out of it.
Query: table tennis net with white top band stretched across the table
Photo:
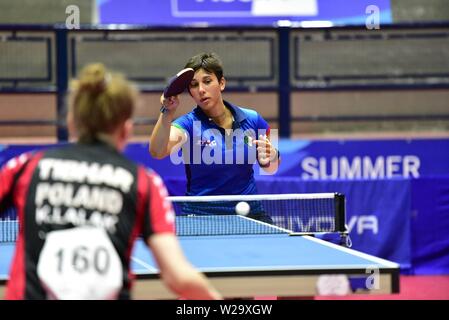
[[[337,193],[169,197],[178,236],[344,232],[345,199]],[[246,202],[247,215],[236,213]],[[0,242],[14,242],[15,210],[0,219]]]

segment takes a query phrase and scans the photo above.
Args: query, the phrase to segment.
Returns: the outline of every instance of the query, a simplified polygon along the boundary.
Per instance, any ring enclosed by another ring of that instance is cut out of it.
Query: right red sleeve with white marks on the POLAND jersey
[[[145,212],[143,236],[155,233],[175,233],[175,213],[164,182],[155,172],[147,172],[148,202]]]

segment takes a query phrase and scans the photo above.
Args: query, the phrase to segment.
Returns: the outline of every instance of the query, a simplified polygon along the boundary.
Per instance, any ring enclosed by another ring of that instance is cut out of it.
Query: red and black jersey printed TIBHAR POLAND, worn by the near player
[[[45,299],[36,267],[46,234],[84,225],[107,231],[124,271],[119,298],[129,298],[136,238],[174,233],[166,196],[156,173],[100,142],[11,159],[0,170],[0,204],[17,209],[20,227],[6,298]]]

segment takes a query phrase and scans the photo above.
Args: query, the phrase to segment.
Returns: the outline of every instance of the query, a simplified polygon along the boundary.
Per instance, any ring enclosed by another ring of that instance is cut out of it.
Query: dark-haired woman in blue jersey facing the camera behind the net
[[[173,156],[182,146],[189,196],[257,194],[254,162],[268,174],[280,163],[268,123],[256,111],[223,100],[226,79],[215,53],[195,55],[185,68],[195,72],[188,91],[196,107],[175,119],[178,96],[161,96],[164,112],[151,135],[151,155]],[[248,216],[271,222],[260,207],[252,206]]]

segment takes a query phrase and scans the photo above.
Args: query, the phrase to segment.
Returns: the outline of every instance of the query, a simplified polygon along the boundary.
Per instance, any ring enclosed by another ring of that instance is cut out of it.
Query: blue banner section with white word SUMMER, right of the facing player
[[[303,180],[396,179],[449,174],[449,139],[281,140],[276,176]]]

